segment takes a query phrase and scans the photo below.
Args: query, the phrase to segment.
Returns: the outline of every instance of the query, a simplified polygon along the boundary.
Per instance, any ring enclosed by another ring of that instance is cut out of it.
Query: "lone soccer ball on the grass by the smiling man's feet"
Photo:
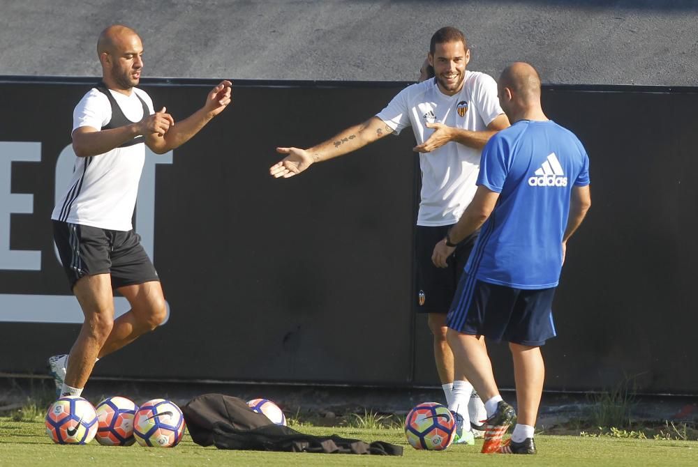
[[[405,435],[415,449],[442,451],[451,445],[456,420],[446,406],[422,402],[407,414]]]

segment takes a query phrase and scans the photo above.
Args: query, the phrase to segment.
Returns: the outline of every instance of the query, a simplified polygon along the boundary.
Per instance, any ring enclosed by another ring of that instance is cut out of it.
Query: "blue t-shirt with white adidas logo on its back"
[[[477,185],[500,193],[466,271],[514,289],[557,286],[572,187],[589,184],[579,139],[553,121],[522,120],[482,150]]]

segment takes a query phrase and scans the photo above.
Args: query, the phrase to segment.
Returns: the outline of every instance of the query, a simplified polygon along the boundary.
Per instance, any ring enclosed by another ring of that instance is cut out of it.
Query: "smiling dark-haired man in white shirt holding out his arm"
[[[295,176],[315,162],[356,151],[411,126],[417,139],[422,169],[422,192],[417,217],[417,310],[429,316],[434,337],[436,369],[449,408],[456,416],[458,442],[473,443],[470,422],[480,425],[484,406],[468,381],[454,381],[453,353],[446,341],[446,314],[476,236],[464,239],[448,268],[431,262],[433,245],[458,222],[473,199],[480,153],[489,138],[509,126],[499,106],[497,84],[489,75],[466,70],[470,50],[463,33],[452,26],[431,37],[428,56],[434,78],[403,89],[376,116],[352,126],[311,148],[277,148],[286,157],[269,169],[272,176]],[[454,245],[456,246],[456,245]],[[484,341],[482,341],[484,346]],[[468,403],[475,399],[479,410]],[[477,428],[480,428],[479,426]]]

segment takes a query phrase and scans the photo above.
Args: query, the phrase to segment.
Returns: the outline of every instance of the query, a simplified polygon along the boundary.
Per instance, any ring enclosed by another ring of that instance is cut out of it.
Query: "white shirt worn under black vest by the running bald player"
[[[143,105],[154,114],[153,101],[141,89],[131,95],[109,91],[128,120],[143,118]],[[138,96],[136,95],[138,93]],[[106,95],[91,89],[73,112],[73,131],[82,126],[101,130],[112,119]],[[115,148],[89,158],[75,158],[75,170],[66,194],[56,204],[51,218],[100,229],[129,231],[138,195],[138,181],[145,160],[145,144]],[[87,165],[87,167],[86,167]]]

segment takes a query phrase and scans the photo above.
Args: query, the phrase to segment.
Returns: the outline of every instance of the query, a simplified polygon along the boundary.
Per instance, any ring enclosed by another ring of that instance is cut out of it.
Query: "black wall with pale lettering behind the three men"
[[[0,79],[0,141],[41,141],[15,162],[11,247],[42,270],[0,270],[0,293],[66,294],[52,251],[54,169],[84,79]],[[176,120],[209,80],[144,80]],[[436,385],[413,314],[419,190],[411,132],[302,176],[274,180],[276,146],[310,146],[375,114],[405,83],[237,82],[233,104],[156,168],[155,263],[168,323],[103,359],[95,376],[348,385]],[[591,156],[593,207],[570,240],[544,347],[547,390],[698,393],[692,300],[698,247],[695,89],[547,86],[548,116]],[[138,230],[138,226],[136,226]],[[1,313],[1,310],[0,310]],[[0,372],[39,374],[79,325],[0,322]],[[17,352],[22,349],[22,352]],[[513,387],[507,347],[490,346]]]

